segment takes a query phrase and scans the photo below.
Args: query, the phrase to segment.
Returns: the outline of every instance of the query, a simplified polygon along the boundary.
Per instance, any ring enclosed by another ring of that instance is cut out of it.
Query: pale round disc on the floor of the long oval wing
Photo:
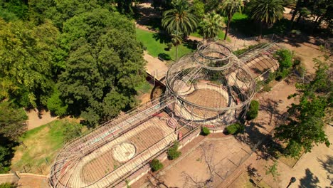
[[[135,146],[131,143],[122,143],[117,145],[113,150],[113,158],[119,162],[127,162],[132,159],[135,155]]]

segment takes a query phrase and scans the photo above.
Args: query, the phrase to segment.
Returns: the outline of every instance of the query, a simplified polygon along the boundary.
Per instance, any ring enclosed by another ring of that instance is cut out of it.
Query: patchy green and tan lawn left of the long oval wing
[[[63,130],[68,123],[68,120],[54,120],[25,132],[21,141],[26,148],[23,145],[15,148],[11,169],[22,172],[23,166],[29,164],[30,173],[48,174],[54,157],[63,147]]]

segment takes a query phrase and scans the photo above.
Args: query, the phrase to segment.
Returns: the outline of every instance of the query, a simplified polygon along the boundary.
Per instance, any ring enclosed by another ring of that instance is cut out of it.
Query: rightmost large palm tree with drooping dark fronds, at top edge
[[[265,26],[273,26],[283,16],[283,1],[282,0],[253,0],[250,1],[250,12],[252,19],[260,21],[260,35],[263,33],[263,24]]]

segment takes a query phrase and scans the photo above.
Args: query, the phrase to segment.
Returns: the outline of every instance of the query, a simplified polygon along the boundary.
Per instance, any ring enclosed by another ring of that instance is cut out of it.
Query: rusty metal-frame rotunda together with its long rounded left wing
[[[162,98],[120,115],[71,141],[51,167],[51,187],[117,187],[175,140],[201,126],[223,129],[241,118],[255,80],[231,49],[201,42],[166,75]],[[129,179],[131,180],[131,179]]]

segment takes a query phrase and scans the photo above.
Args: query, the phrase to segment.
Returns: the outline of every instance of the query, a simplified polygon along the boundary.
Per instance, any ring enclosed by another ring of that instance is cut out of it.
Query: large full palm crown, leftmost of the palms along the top
[[[187,0],[173,0],[171,5],[173,9],[163,13],[162,26],[166,28],[168,33],[176,31],[188,36],[197,26],[197,19],[191,13],[189,2]]]

